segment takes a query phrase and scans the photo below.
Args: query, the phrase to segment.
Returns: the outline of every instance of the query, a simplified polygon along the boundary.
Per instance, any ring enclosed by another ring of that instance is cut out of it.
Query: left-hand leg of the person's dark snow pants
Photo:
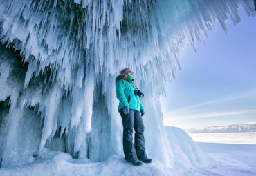
[[[132,142],[132,133],[134,132],[134,110],[129,110],[129,113],[127,115],[123,112],[123,110],[120,110],[119,113],[122,117],[122,145],[125,153],[125,159],[137,159],[134,143]]]

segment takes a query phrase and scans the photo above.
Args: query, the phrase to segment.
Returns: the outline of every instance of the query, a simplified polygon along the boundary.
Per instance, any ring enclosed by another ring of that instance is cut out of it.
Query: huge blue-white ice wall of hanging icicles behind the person
[[[238,8],[255,16],[253,0],[1,0],[1,43],[14,49],[1,46],[1,166],[44,147],[91,161],[122,155],[115,78],[127,67],[145,93],[147,153],[173,165],[159,96],[186,43],[204,42],[215,21],[227,32]]]

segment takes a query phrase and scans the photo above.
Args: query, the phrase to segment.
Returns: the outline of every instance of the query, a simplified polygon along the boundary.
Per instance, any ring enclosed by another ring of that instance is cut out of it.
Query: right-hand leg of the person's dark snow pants
[[[141,118],[141,113],[136,111],[134,112],[134,146],[136,153],[139,159],[147,157],[145,153],[145,139],[144,139],[144,124],[143,119]]]

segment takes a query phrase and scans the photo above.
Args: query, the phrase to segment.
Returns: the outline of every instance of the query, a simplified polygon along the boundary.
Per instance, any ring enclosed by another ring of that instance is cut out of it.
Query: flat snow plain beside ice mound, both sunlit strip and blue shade
[[[256,175],[256,133],[189,135],[203,151],[207,165],[205,175]]]

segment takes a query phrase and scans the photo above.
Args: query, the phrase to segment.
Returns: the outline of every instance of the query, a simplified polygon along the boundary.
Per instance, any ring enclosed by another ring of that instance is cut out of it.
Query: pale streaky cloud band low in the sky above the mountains
[[[184,129],[204,128],[223,124],[225,117],[232,116],[234,121],[237,121],[238,116],[244,118],[255,116],[256,119],[256,92],[171,110],[163,113],[163,122],[165,126],[179,126]]]

